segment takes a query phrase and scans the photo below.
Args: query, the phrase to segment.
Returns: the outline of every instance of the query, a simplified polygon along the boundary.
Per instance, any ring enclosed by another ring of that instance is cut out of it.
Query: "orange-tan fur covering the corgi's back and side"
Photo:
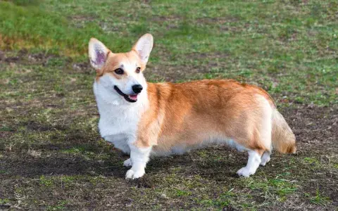
[[[139,122],[139,147],[155,145],[155,151],[168,151],[180,144],[198,145],[217,134],[259,154],[270,151],[270,143],[260,137],[264,110],[253,97],[261,95],[275,107],[263,89],[233,80],[203,80],[149,83],[147,91],[150,108]]]

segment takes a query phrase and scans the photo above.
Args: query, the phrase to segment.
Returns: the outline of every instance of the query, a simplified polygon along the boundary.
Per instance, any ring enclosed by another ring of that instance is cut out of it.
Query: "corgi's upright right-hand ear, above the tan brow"
[[[137,52],[144,64],[148,62],[151,49],[153,49],[153,43],[153,36],[151,34],[144,34],[132,47],[132,50]]]

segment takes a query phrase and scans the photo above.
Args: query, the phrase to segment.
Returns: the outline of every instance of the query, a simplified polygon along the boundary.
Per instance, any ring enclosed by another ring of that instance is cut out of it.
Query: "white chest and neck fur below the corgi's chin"
[[[99,108],[99,132],[106,140],[124,153],[130,153],[128,142],[137,136],[137,124],[148,106],[146,91],[138,96],[135,103],[129,103],[115,90],[107,89],[94,82],[94,94]]]

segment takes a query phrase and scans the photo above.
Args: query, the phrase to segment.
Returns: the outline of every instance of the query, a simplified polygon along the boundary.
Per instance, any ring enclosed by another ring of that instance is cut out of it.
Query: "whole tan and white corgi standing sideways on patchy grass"
[[[144,34],[127,53],[113,53],[90,39],[89,59],[96,70],[94,94],[99,132],[130,158],[126,179],[145,174],[153,156],[182,154],[194,148],[223,144],[247,151],[242,177],[255,174],[275,148],[295,153],[296,139],[270,95],[231,79],[149,83],[143,71],[153,48]]]

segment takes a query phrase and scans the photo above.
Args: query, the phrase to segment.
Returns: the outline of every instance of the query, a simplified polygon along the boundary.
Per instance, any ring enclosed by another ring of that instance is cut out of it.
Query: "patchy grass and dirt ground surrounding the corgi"
[[[0,209],[334,210],[337,206],[335,1],[0,1]],[[90,37],[128,51],[154,35],[151,82],[232,78],[275,98],[297,155],[249,179],[224,147],[127,159],[97,132]],[[299,207],[301,205],[301,207]]]

